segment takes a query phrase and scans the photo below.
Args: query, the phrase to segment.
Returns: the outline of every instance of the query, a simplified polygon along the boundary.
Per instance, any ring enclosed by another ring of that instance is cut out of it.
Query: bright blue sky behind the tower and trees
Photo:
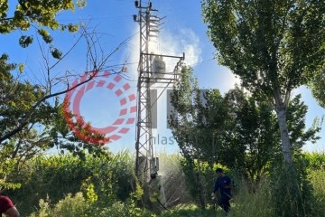
[[[16,1],[12,2],[13,5]],[[219,66],[218,62],[213,60],[215,49],[209,42],[207,36],[207,27],[201,19],[200,1],[172,1],[172,0],[153,0],[153,8],[159,10],[159,16],[163,17],[163,29],[159,35],[155,47],[158,52],[168,55],[181,55],[185,52],[185,62],[194,68],[194,74],[200,80],[202,89],[217,88],[222,93],[227,92],[238,80],[228,71],[227,68]],[[110,58],[108,64],[124,64],[128,69],[123,74],[127,80],[121,83],[129,83],[131,90],[135,92],[137,61],[139,60],[139,38],[138,24],[133,21],[133,14],[137,14],[133,0],[88,0],[88,5],[82,10],[77,9],[75,13],[59,14],[60,23],[78,23],[88,24],[89,29],[96,28],[99,33],[99,42],[105,52],[114,51],[116,47],[125,39],[129,39],[121,46],[118,52]],[[35,34],[32,30],[30,33]],[[21,49],[18,43],[18,37],[21,33],[8,34],[0,37],[0,52],[8,52],[11,55],[11,61],[24,62],[26,71],[21,75],[21,79],[32,80],[32,82],[46,83],[44,63],[40,46],[35,41],[29,48]],[[63,52],[69,50],[73,42],[78,39],[77,34],[52,33],[54,37],[53,44]],[[46,51],[46,46],[43,46]],[[82,74],[86,68],[87,46],[85,42],[80,42],[65,61],[54,68],[51,72],[51,78],[55,80],[65,74]],[[52,63],[54,61],[51,61]],[[168,62],[167,62],[168,63]],[[70,82],[72,82],[70,80]],[[116,87],[121,88],[121,86]],[[55,87],[56,90],[64,88],[64,83]],[[315,117],[321,117],[325,113],[316,101],[312,99],[310,90],[301,88],[294,93],[302,93],[302,99],[309,106],[306,118],[307,127],[311,127],[312,120]],[[61,97],[63,99],[64,96]],[[112,125],[119,115],[119,98],[112,91],[105,88],[89,90],[80,101],[80,113],[95,127],[107,127]],[[158,100],[158,128],[153,130],[153,136],[156,137],[154,149],[159,151],[177,152],[178,147],[172,138],[172,133],[166,129],[165,120],[165,97]],[[320,137],[324,135],[322,130]],[[159,141],[158,141],[159,135]],[[163,140],[167,139],[167,144]],[[304,146],[307,151],[324,151],[325,139],[321,139],[317,145],[308,144]],[[129,148],[135,151],[135,125],[130,125],[130,130],[116,142],[108,145],[113,151],[120,151]]]

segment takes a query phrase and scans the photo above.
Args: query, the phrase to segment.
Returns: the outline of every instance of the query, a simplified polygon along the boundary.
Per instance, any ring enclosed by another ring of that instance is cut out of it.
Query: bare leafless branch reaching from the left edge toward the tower
[[[126,42],[128,42],[130,40],[130,38],[132,36],[126,38],[125,41],[119,43],[115,50],[106,54],[105,49],[103,49],[103,47],[100,45],[101,37],[98,36],[95,31],[88,33],[88,30],[86,29],[85,25],[82,26],[81,31],[82,31],[81,35],[78,38],[77,42],[75,42],[70,47],[70,50],[68,52],[66,52],[59,61],[56,61],[51,66],[49,65],[50,64],[49,58],[46,57],[46,54],[45,54],[44,50],[42,49],[41,42],[38,40],[38,44],[39,44],[40,50],[42,52],[42,59],[45,63],[45,68],[46,68],[46,73],[47,73],[46,80],[48,82],[48,86],[47,86],[48,90],[45,92],[45,96],[43,96],[42,99],[39,99],[37,102],[35,102],[35,104],[32,106],[31,109],[29,109],[28,112],[26,112],[25,114],[22,114],[21,118],[18,118],[16,127],[9,129],[7,132],[3,132],[2,134],[0,134],[0,136],[1,136],[0,144],[2,142],[4,142],[6,139],[9,139],[9,138],[13,137],[14,135],[16,135],[17,133],[21,132],[24,127],[28,126],[30,124],[32,117],[35,114],[36,109],[40,105],[42,105],[42,103],[45,102],[46,100],[55,98],[62,94],[65,94],[65,93],[69,92],[70,90],[74,90],[74,89],[78,88],[79,86],[87,83],[89,80],[93,80],[94,77],[98,75],[99,71],[106,71],[106,69],[108,69],[108,68],[112,68],[114,73],[120,73],[122,71],[122,67],[119,68],[120,70],[114,69],[114,68],[118,67],[118,65],[113,65],[111,67],[107,67],[106,64],[107,64],[107,61],[109,60],[109,58],[111,58],[113,54],[118,52],[121,49],[121,47]],[[73,50],[73,48],[76,47],[77,43],[83,37],[85,38],[85,41],[86,41],[86,44],[88,47],[87,68],[86,68],[85,74],[88,74],[88,73],[90,73],[90,74],[88,75],[87,79],[79,82],[79,84],[74,85],[72,87],[69,84],[70,77],[76,77],[76,76],[79,76],[79,74],[73,74],[70,71],[66,71],[66,74],[63,77],[54,77],[51,79],[51,71],[55,68],[55,66],[58,65],[58,63],[60,61],[62,61],[65,57],[68,56],[68,54]],[[123,65],[125,65],[125,64],[123,64]],[[67,84],[67,88],[65,90],[59,90],[59,91],[52,93],[51,89],[52,89],[53,85],[60,84],[62,82],[65,82]]]

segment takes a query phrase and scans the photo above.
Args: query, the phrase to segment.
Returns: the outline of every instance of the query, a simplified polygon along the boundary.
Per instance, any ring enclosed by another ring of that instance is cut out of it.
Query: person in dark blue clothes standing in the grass
[[[220,191],[220,197],[218,199],[218,205],[228,213],[230,210],[230,199],[231,199],[231,179],[224,174],[221,168],[216,170],[217,180],[214,185],[212,197],[217,198],[218,191]]]

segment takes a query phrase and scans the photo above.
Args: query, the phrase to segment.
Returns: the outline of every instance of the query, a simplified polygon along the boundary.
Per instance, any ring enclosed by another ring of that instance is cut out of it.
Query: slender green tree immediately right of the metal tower
[[[217,91],[214,96],[219,98]],[[188,178],[190,193],[200,204],[200,207],[204,209],[206,206],[206,193],[203,185],[204,177],[200,170],[200,162],[201,158],[204,161],[209,160],[209,163],[213,162],[213,158],[207,159],[207,157],[216,154],[217,149],[214,148],[214,141],[217,140],[215,140],[215,136],[217,137],[220,132],[218,132],[217,128],[210,127],[209,125],[213,124],[213,122],[204,116],[205,110],[200,106],[198,83],[197,80],[193,79],[192,70],[189,67],[181,69],[180,80],[174,86],[171,102],[174,111],[169,119],[169,123],[172,127],[173,137],[175,137],[178,146],[180,146],[181,155],[184,156],[182,162],[183,171]],[[194,171],[195,162],[199,165],[198,171]],[[192,188],[193,185],[196,187]]]

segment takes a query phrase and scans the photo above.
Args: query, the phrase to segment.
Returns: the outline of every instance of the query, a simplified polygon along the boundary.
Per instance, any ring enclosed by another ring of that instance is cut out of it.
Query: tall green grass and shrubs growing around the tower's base
[[[181,169],[181,156],[160,153],[160,175],[168,208],[161,216],[222,216],[222,210],[200,210],[195,200],[190,197],[186,184],[186,176]],[[156,216],[152,212],[136,207],[130,193],[134,179],[135,157],[127,152],[117,155],[108,154],[102,157],[87,156],[80,161],[73,156],[41,157],[31,165],[31,176],[23,187],[14,191],[19,196],[18,209],[23,216],[30,210],[33,217],[50,216]],[[235,174],[227,173],[232,179],[238,180],[233,188],[234,198],[231,200],[232,217],[282,217],[272,192],[271,179],[264,178],[258,184],[248,184],[237,179]],[[325,216],[325,171],[321,168],[308,170],[308,178],[312,184],[313,199],[311,203],[315,217]],[[55,182],[54,182],[55,181]],[[279,182],[281,182],[280,179]],[[206,179],[206,192],[210,193],[210,185],[214,180]],[[62,184],[65,184],[64,186]],[[83,191],[82,186],[86,186]],[[36,187],[37,186],[37,187]],[[41,186],[41,187],[39,187]],[[93,186],[93,188],[90,188]],[[32,190],[32,192],[30,191]],[[89,196],[90,190],[97,197]],[[56,191],[57,193],[52,193]],[[82,191],[82,193],[78,193]],[[284,196],[285,193],[282,194]],[[46,198],[49,199],[39,200]],[[61,196],[60,196],[61,195]],[[59,198],[60,196],[60,198]],[[206,195],[209,198],[209,195]],[[280,198],[281,199],[281,198]],[[37,203],[34,201],[37,200]],[[29,205],[29,210],[21,204]],[[290,205],[290,204],[288,204]],[[35,209],[37,207],[37,209]],[[35,211],[37,210],[37,211]],[[305,216],[304,216],[305,217]]]

